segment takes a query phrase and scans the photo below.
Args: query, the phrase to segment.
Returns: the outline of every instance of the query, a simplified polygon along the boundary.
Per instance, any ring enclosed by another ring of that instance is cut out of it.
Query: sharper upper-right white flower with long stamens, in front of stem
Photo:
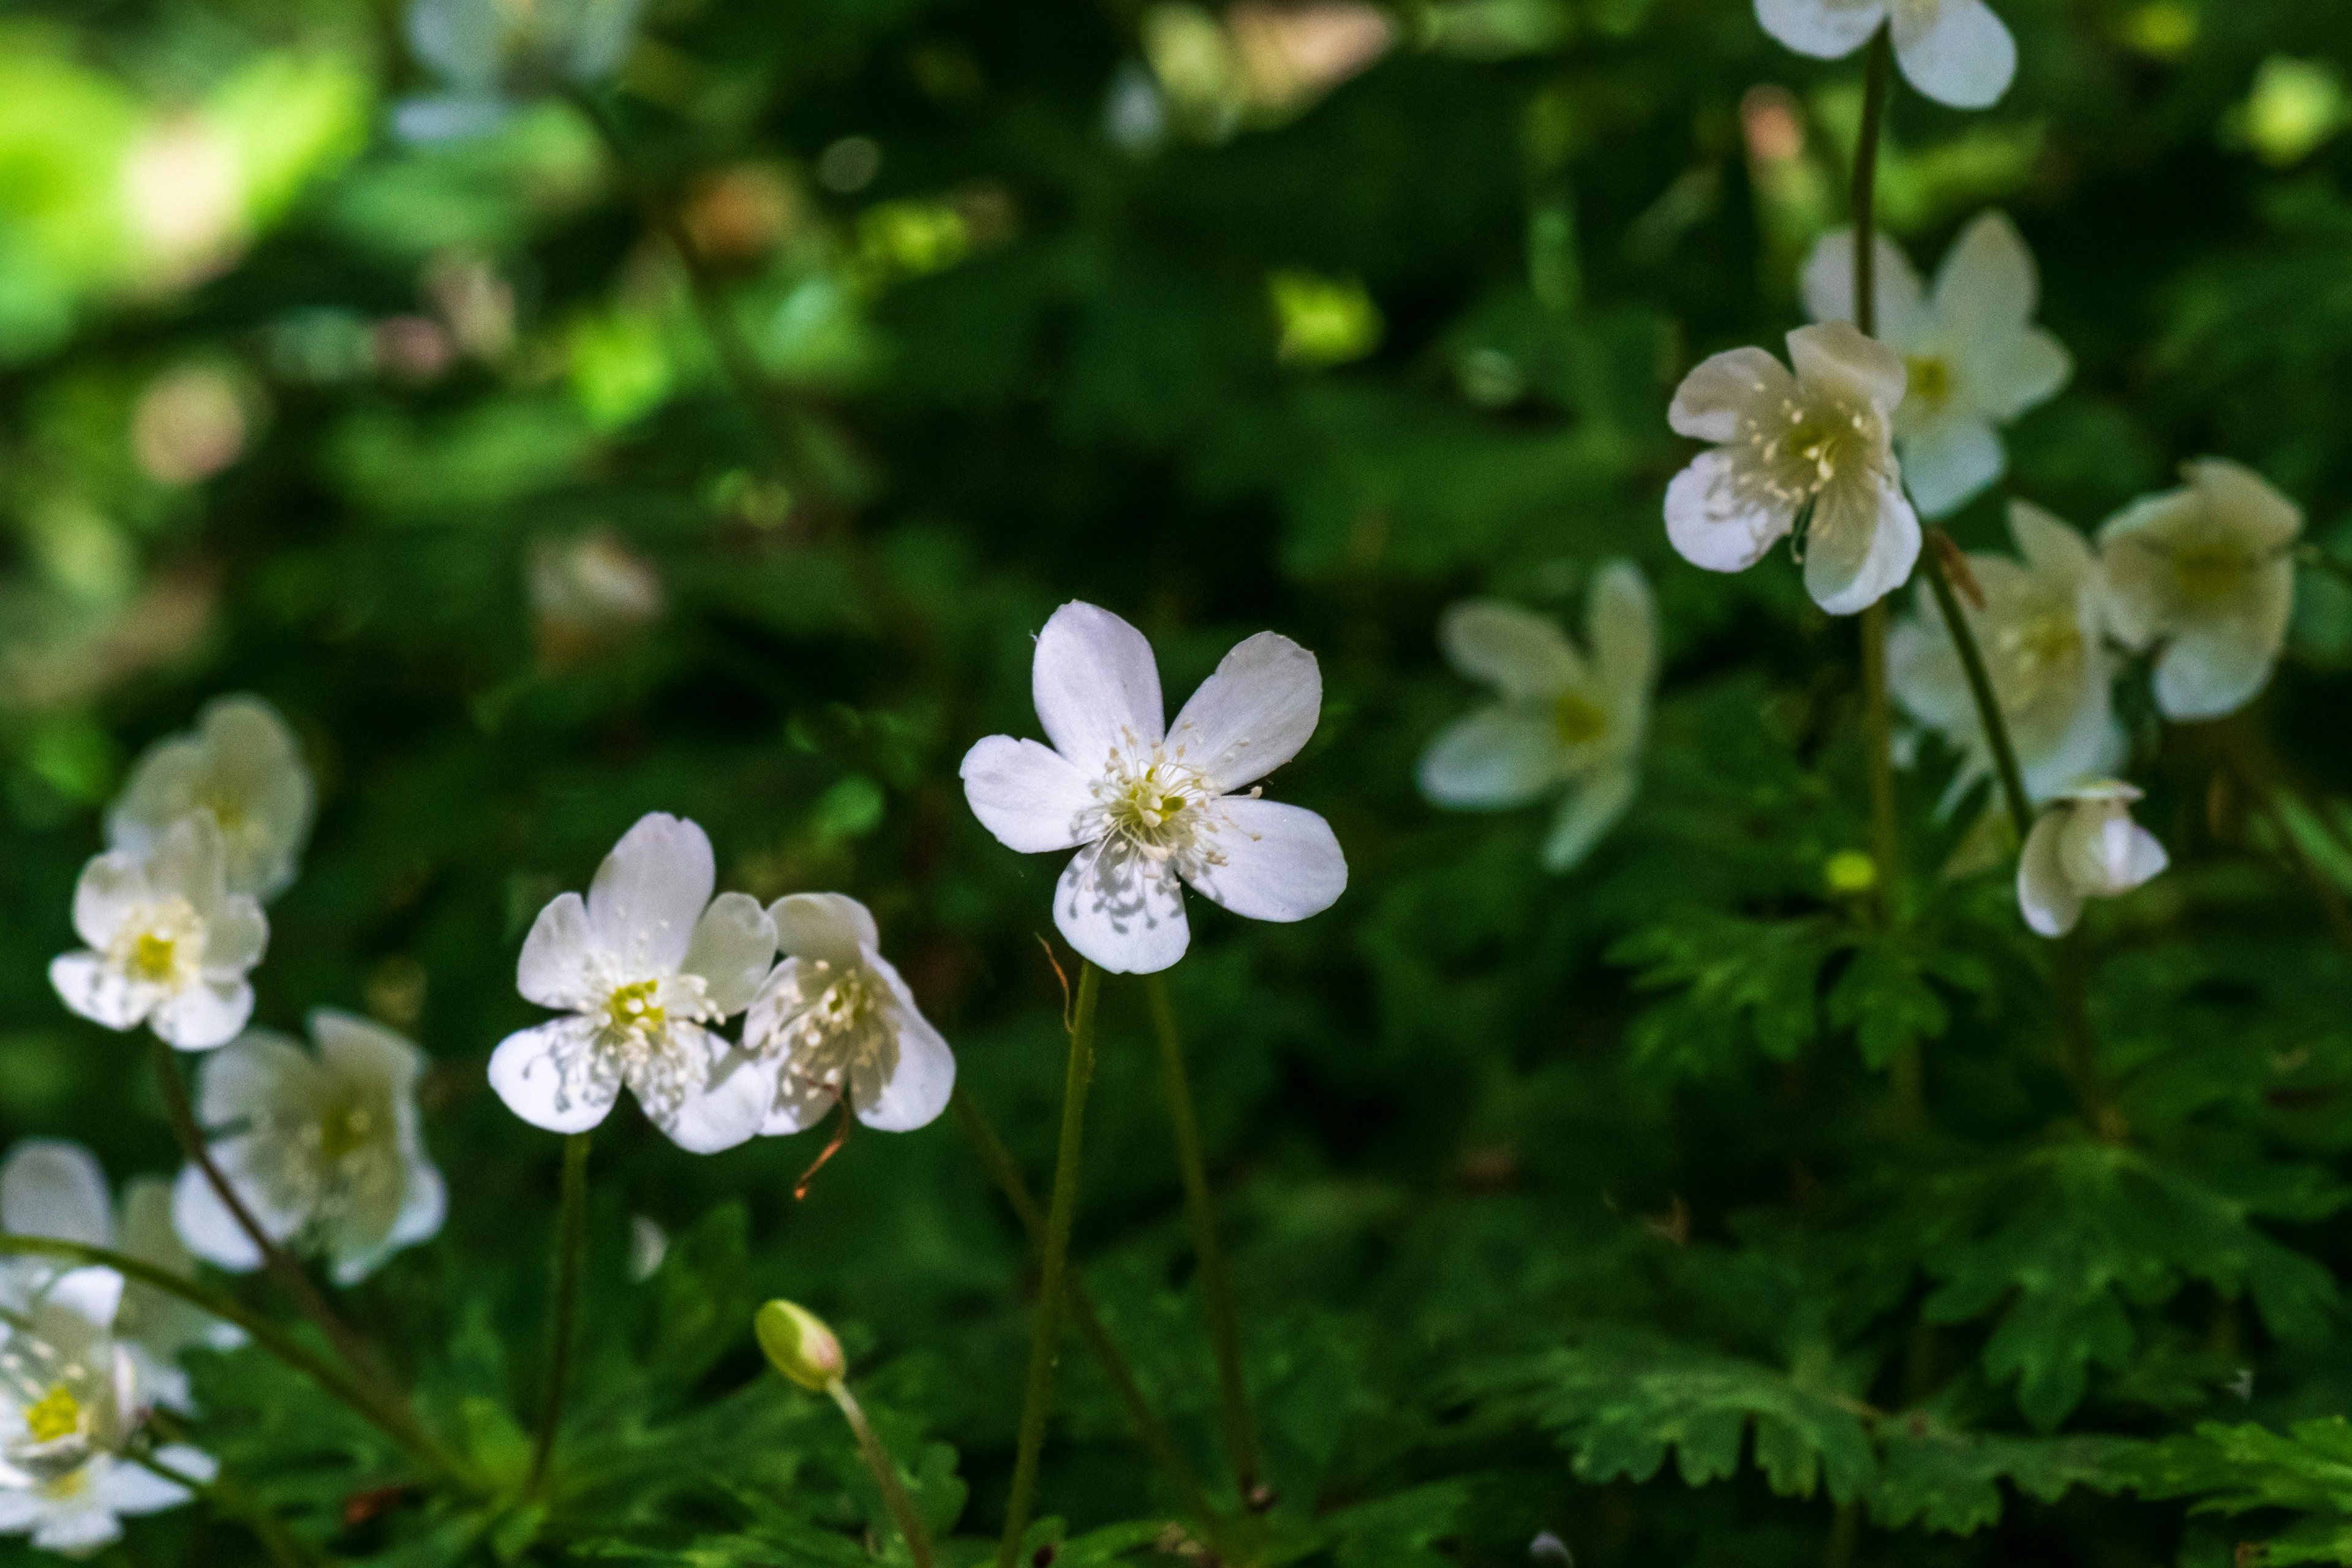
[[[1762,348],[1733,348],[1682,378],[1665,421],[1715,449],[1668,487],[1665,536],[1696,567],[1745,571],[1811,510],[1804,585],[1851,616],[1919,559],[1889,437],[1903,360],[1846,322],[1799,327],[1788,357],[1795,376]]]

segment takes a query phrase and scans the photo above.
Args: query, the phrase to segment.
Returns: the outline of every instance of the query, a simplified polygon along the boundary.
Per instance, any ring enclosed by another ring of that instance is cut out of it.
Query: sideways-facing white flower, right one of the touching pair
[[[743,1016],[743,1051],[776,1074],[762,1133],[797,1133],[849,1093],[866,1126],[908,1133],[948,1107],[955,1053],[882,957],[875,917],[844,893],[767,907],[783,961]]]

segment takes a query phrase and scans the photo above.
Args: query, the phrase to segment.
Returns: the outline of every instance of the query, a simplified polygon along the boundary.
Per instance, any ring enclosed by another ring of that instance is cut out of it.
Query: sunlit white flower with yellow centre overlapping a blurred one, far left
[[[148,856],[113,849],[82,867],[73,929],[89,947],[52,961],[49,985],[82,1018],[108,1030],[146,1023],[181,1051],[207,1051],[254,1011],[245,976],[270,924],[228,891],[209,813],[183,816]]]

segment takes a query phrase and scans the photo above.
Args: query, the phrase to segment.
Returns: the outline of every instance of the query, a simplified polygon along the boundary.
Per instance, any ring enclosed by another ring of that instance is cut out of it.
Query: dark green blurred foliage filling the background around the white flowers
[[[2079,369],[2011,433],[2011,494],[2089,527],[2223,454],[2352,557],[2345,16],[1999,9],[2018,82],[1983,115],[1898,94],[1882,216],[1936,254],[1997,205],[2042,261]],[[1583,1568],[2352,1561],[2352,595],[2303,574],[2230,726],[2126,710],[2176,870],[2096,912],[2070,1056],[2004,875],[1938,877],[1957,759],[1905,776],[1879,929],[1832,867],[1867,837],[1851,623],[1661,527],[1679,374],[1797,324],[1844,219],[1856,63],[1743,0],[1369,14],[1385,47],[1319,85],[1190,7],[656,0],[609,80],[503,82],[433,139],[393,129],[454,89],[390,5],[0,19],[0,1124],[176,1164],[136,1046],[45,964],[127,759],[266,693],[322,809],[259,1018],[414,1034],[452,1173],[447,1232],[348,1305],[520,1472],[560,1140],[482,1063],[534,1020],[539,905],[652,809],[722,886],[856,893],[1042,1187],[1051,867],[955,762],[1035,733],[1063,599],[1145,628],[1176,693],[1270,625],[1329,693],[1275,792],[1352,886],[1301,926],[1195,903],[1174,973],[1265,1561],[1515,1563],[1538,1530]],[[1999,515],[1955,534],[1997,548]],[[1470,701],[1432,628],[1468,592],[1573,618],[1613,555],[1665,632],[1644,795],[1545,877],[1541,811],[1411,788]],[[1145,1058],[1112,983],[1077,1258],[1230,1500]],[[950,1119],[854,1135],[795,1201],[816,1143],[600,1138],[543,1512],[372,1493],[395,1455],[249,1349],[198,1356],[198,1439],[348,1559],[896,1559],[847,1432],[762,1375],[750,1309],[790,1295],[971,1561],[1021,1232]],[[673,1237],[642,1281],[637,1215]],[[1063,1373],[1056,1561],[1190,1552],[1098,1371]],[[106,1561],[254,1556],[200,1507]]]

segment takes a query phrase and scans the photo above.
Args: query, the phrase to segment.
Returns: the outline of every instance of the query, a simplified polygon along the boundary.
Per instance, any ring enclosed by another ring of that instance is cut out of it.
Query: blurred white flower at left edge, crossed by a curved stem
[[[195,1258],[172,1229],[172,1182],[134,1175],[122,1190],[122,1213],[106,1199],[106,1171],[78,1143],[26,1138],[0,1161],[0,1229],[16,1237],[54,1237],[103,1246],[155,1265],[181,1279],[195,1276]],[[75,1265],[56,1258],[9,1258],[0,1265],[0,1305],[21,1312],[40,1291]],[[136,1279],[125,1281],[113,1319],[115,1342],[136,1363],[139,1387],[155,1403],[188,1408],[188,1373],[179,1354],[205,1345],[230,1349],[245,1335],[176,1295]]]

